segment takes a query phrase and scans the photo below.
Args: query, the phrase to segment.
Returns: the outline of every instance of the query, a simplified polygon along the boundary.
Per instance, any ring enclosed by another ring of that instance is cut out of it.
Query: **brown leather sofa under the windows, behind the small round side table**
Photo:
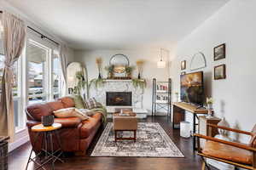
[[[63,97],[52,102],[32,104],[26,107],[26,117],[28,120],[26,126],[33,150],[36,152],[40,150],[42,137],[39,136],[37,141],[35,141],[36,133],[31,131],[31,127],[41,123],[41,116],[52,115],[53,111],[68,107],[74,107],[71,97]],[[65,152],[75,152],[76,155],[84,155],[102,124],[102,114],[96,113],[85,121],[81,121],[78,117],[68,117],[55,118],[55,122],[59,122],[62,125],[59,130],[62,150]],[[54,137],[55,148],[57,148],[56,144]]]

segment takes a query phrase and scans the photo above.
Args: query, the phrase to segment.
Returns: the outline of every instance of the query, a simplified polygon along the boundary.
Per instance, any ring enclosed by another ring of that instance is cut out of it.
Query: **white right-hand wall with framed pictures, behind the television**
[[[207,58],[205,86],[215,100],[216,116],[224,116],[231,127],[251,130],[256,120],[256,1],[231,0],[182,42],[171,56],[174,91],[179,92],[180,61],[202,52]],[[226,43],[226,59],[213,61],[213,48]],[[227,78],[213,80],[213,66],[226,64]],[[189,72],[189,68],[186,70]],[[242,138],[242,140],[246,140]]]

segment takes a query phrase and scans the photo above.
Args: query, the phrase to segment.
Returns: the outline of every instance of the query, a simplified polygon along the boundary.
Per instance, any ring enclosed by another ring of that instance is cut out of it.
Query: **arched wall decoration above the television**
[[[194,54],[190,61],[190,71],[196,71],[207,67],[207,59],[201,52]]]

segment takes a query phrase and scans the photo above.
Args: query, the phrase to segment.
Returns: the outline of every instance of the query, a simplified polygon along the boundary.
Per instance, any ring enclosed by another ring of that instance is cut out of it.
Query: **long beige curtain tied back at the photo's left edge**
[[[3,49],[5,55],[1,112],[0,112],[0,135],[9,135],[10,141],[15,136],[14,101],[13,101],[13,65],[25,45],[26,26],[25,23],[14,15],[3,12]]]

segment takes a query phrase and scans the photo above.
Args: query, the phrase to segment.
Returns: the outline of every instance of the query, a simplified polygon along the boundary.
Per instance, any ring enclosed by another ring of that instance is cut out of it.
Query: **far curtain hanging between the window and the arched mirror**
[[[68,55],[67,46],[64,44],[61,44],[59,46],[59,51],[60,51],[60,58],[61,58],[60,59],[61,71],[64,78],[64,82],[62,86],[64,91],[62,91],[62,95],[66,95],[67,94],[67,55]]]

